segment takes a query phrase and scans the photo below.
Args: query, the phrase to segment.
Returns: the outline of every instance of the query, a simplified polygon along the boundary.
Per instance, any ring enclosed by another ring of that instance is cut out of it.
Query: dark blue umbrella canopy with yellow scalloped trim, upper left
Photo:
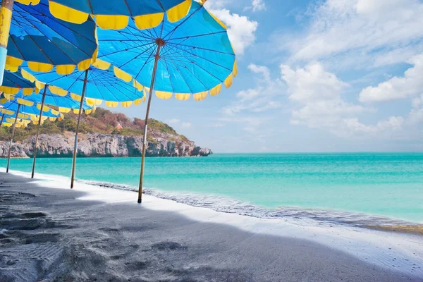
[[[4,1],[4,0],[3,0]],[[71,73],[75,66],[85,70],[96,56],[96,25],[89,19],[82,25],[51,15],[48,1],[36,6],[13,6],[7,44],[6,68],[17,71],[23,61],[34,71]]]

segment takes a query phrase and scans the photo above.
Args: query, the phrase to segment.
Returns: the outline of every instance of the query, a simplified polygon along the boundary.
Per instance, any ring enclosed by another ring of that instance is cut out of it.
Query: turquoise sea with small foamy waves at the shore
[[[38,159],[37,173],[70,176],[72,159]],[[12,159],[30,172],[32,159]],[[6,166],[6,159],[0,160]],[[140,158],[80,158],[76,178],[135,190]],[[423,154],[214,154],[147,158],[147,193],[250,216],[346,223],[423,222]],[[134,201],[136,195],[134,193]]]

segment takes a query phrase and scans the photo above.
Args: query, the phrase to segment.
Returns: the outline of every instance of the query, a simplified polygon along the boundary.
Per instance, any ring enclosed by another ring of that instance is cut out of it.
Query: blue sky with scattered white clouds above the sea
[[[202,102],[153,97],[152,118],[214,152],[423,150],[422,0],[206,6],[228,26],[238,77]]]

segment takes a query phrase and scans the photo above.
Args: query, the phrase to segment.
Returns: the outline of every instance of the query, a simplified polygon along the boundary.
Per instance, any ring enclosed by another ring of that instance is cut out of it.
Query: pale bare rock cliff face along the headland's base
[[[80,134],[78,157],[140,157],[142,137],[116,134],[87,133]],[[189,140],[176,140],[167,136],[154,137],[148,142],[146,157],[206,157],[212,154],[207,148],[196,147]],[[73,133],[39,135],[37,157],[72,157]],[[0,142],[0,157],[7,157],[8,142]],[[23,142],[13,143],[11,157],[27,158],[34,156],[35,137]]]

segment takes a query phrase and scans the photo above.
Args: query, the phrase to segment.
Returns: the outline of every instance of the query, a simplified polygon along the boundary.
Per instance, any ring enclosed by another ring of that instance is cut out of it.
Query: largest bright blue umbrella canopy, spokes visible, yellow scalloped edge
[[[154,90],[159,98],[202,100],[219,94],[221,83],[231,86],[237,74],[235,52],[226,26],[201,4],[183,20],[163,20],[158,27],[137,30],[130,21],[124,30],[98,30],[99,58],[110,61],[149,86],[157,56]],[[159,49],[158,54],[157,50]]]

